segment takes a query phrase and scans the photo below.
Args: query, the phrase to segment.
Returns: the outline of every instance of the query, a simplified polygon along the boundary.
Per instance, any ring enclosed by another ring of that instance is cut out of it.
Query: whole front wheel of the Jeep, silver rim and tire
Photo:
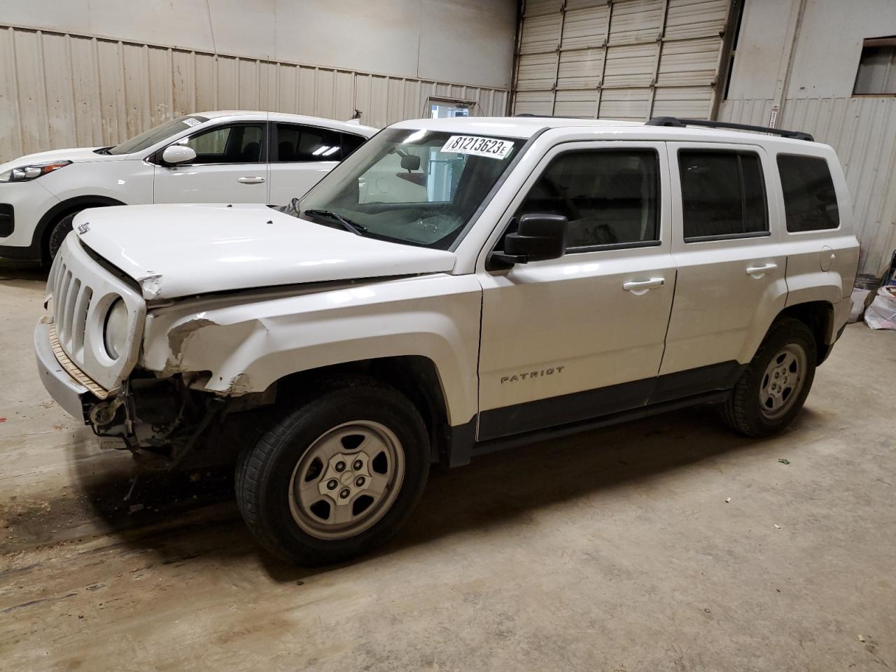
[[[288,562],[327,564],[380,546],[418,503],[426,426],[401,392],[370,378],[315,390],[237,462],[237,505],[255,538]]]

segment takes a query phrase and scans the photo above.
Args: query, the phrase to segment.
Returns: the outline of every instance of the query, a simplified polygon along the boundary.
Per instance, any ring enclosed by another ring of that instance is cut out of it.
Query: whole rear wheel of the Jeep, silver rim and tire
[[[748,436],[779,432],[803,408],[815,377],[817,351],[805,323],[777,320],[740,376],[722,418]]]

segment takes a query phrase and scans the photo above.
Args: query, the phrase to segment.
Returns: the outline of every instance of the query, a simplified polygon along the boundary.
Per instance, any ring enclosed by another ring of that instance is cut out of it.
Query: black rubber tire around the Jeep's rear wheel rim
[[[766,368],[771,365],[771,358],[775,358],[788,345],[797,346],[805,351],[806,371],[802,374],[801,387],[794,399],[789,402],[788,408],[780,417],[769,418],[763,412],[760,391]],[[759,346],[754,358],[737,380],[728,401],[722,404],[720,409],[722,419],[729,427],[747,436],[770,436],[780,432],[803,408],[806,396],[812,388],[817,361],[815,338],[806,323],[790,317],[776,320],[762,340],[762,345]]]

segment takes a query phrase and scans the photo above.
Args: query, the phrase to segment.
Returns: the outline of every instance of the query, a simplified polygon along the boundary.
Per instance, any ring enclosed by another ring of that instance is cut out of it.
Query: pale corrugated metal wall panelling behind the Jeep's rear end
[[[769,125],[771,99],[726,100],[719,118]],[[879,274],[896,247],[896,99],[785,99],[778,128],[807,131],[837,151],[852,198],[859,272]]]

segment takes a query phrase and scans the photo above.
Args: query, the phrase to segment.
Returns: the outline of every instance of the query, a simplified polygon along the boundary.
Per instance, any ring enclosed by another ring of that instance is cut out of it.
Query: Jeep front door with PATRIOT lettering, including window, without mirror
[[[667,161],[662,142],[567,142],[523,186],[487,251],[522,214],[551,213],[570,220],[566,253],[479,260],[478,440],[647,402],[676,283]]]

